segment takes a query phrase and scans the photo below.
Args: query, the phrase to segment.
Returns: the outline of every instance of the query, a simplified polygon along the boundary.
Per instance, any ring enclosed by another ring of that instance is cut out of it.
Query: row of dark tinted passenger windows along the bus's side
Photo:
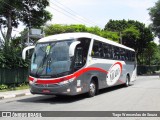
[[[96,40],[93,44],[92,56],[94,58],[135,61],[135,53],[133,51]]]

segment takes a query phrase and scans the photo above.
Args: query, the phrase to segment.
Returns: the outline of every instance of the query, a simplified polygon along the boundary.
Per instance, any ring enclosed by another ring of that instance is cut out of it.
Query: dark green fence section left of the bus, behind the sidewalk
[[[0,85],[28,82],[28,68],[0,68]]]

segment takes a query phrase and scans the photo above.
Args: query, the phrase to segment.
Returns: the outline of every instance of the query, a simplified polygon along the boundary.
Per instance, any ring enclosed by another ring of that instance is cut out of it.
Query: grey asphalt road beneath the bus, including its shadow
[[[141,76],[132,86],[103,89],[92,98],[30,95],[4,99],[0,111],[160,111],[160,78]]]

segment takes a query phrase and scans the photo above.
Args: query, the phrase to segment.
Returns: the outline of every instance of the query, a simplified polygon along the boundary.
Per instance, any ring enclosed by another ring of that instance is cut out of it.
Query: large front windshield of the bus
[[[38,43],[31,60],[32,76],[59,77],[70,72],[69,46],[73,40]]]

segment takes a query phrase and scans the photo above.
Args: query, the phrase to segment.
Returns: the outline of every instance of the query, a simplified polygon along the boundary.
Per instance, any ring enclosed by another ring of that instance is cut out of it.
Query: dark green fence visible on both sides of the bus
[[[160,66],[137,66],[138,75],[154,73],[158,70],[160,70]],[[28,68],[0,68],[0,85],[19,84],[24,82],[28,82]]]

